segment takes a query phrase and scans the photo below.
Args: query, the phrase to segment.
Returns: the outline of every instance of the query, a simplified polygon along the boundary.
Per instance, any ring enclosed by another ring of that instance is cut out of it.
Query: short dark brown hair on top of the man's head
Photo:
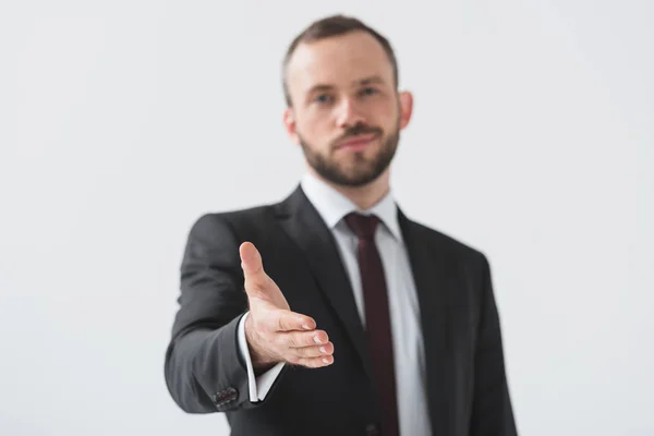
[[[368,27],[366,24],[364,24],[362,21],[360,21],[358,19],[354,19],[352,16],[346,16],[342,14],[331,15],[331,16],[320,19],[320,20],[315,21],[312,24],[310,24],[304,31],[302,31],[302,33],[300,35],[298,35],[293,39],[293,41],[291,43],[291,45],[289,46],[289,48],[287,50],[286,57],[283,58],[282,73],[281,73],[282,74],[283,97],[286,99],[287,106],[289,106],[289,107],[292,106],[291,96],[289,94],[289,87],[287,84],[287,66],[289,64],[291,57],[293,56],[293,52],[298,48],[298,46],[301,43],[311,44],[311,43],[318,41],[320,39],[329,38],[332,36],[346,35],[346,34],[349,34],[350,32],[356,32],[356,31],[365,32],[365,33],[372,35],[382,45],[382,47],[384,48],[384,51],[386,51],[386,55],[388,56],[388,59],[390,60],[390,64],[392,66],[392,76],[395,80],[395,85],[398,86],[398,83],[399,83],[398,62],[397,62],[395,52],[393,52],[392,47],[390,46],[390,43],[388,41],[388,39],[386,39],[377,31],[375,31],[372,27]]]

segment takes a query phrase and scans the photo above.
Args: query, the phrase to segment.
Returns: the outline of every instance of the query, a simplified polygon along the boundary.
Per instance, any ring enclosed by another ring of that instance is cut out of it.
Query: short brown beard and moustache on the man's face
[[[349,162],[339,162],[332,157],[336,143],[344,138],[371,133],[382,138],[382,147],[372,158],[366,159],[364,152],[356,152],[353,156],[354,162],[349,165]],[[306,161],[318,175],[337,185],[358,187],[373,182],[390,166],[400,142],[400,124],[398,120],[393,132],[388,135],[384,135],[384,131],[379,128],[356,124],[335,141],[334,144],[330,144],[327,154],[316,152],[317,148],[308,144],[302,135],[298,134],[298,137]]]

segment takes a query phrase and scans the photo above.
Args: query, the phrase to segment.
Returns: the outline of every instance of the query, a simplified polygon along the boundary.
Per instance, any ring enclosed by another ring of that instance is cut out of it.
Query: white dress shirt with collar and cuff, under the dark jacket
[[[429,436],[420,306],[391,193],[372,208],[360,210],[348,197],[311,173],[304,175],[301,186],[336,239],[364,325],[365,304],[356,257],[359,240],[343,218],[352,211],[358,211],[364,215],[374,214],[383,222],[375,233],[375,242],[382,257],[388,290],[400,434]],[[239,323],[239,348],[247,366],[250,401],[257,402],[266,397],[284,363],[278,363],[271,370],[255,377],[245,340],[244,325],[247,315],[245,314]]]

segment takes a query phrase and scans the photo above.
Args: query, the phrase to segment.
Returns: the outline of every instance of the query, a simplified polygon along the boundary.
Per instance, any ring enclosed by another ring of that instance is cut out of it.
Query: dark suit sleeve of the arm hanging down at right
[[[505,371],[499,314],[485,256],[474,365],[471,436],[516,436],[518,432]]]

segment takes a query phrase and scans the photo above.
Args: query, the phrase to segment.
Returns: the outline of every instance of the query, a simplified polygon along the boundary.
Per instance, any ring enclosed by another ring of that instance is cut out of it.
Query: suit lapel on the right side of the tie
[[[455,398],[451,391],[450,312],[447,310],[453,277],[449,269],[451,257],[434,246],[428,229],[410,221],[399,209],[398,219],[420,303],[432,431],[434,435],[446,435],[450,434],[449,402]]]

